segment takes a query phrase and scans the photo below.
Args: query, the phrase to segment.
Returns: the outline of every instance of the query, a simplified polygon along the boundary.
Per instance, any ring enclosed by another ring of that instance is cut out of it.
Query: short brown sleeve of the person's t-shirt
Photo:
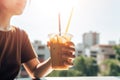
[[[25,63],[36,57],[37,54],[33,49],[27,33],[25,31],[22,31],[21,63]]]

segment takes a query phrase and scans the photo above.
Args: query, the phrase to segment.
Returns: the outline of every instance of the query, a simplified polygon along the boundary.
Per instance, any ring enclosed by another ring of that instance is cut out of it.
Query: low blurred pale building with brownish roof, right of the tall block
[[[96,59],[98,65],[100,65],[100,70],[106,70],[106,65],[101,65],[107,59],[115,59],[115,50],[113,45],[95,45],[91,48],[91,57]]]

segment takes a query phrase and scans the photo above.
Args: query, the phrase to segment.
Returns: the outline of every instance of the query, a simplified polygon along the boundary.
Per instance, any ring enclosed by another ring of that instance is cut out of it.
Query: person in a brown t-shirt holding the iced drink
[[[53,71],[51,58],[40,63],[25,30],[10,24],[11,18],[24,11],[27,0],[0,0],[0,80],[14,80],[21,65],[32,79],[48,75]],[[74,44],[68,42],[64,58],[74,59]],[[73,62],[65,61],[66,66]]]

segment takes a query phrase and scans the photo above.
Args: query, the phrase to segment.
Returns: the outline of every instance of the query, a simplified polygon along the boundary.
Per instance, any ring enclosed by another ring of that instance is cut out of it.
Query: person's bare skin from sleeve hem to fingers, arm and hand
[[[62,46],[63,47],[61,51],[63,53],[62,58],[66,59],[64,61],[64,64],[66,66],[73,65],[72,60],[75,58],[75,55],[73,54],[73,52],[75,51],[75,48],[73,46],[74,44],[72,42],[68,42],[66,43],[66,45]],[[70,60],[68,61],[68,59]],[[53,71],[52,65],[51,65],[51,58],[44,61],[43,63],[40,63],[37,58],[33,58],[23,63],[23,66],[25,67],[26,71],[29,73],[29,75],[32,78],[41,78]]]

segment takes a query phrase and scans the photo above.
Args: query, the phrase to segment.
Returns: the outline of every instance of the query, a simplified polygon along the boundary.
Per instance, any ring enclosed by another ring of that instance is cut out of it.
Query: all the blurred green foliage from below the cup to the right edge
[[[79,56],[74,60],[74,66],[69,70],[53,71],[49,77],[69,77],[69,76],[120,76],[120,45],[113,47],[116,51],[117,59],[105,60],[101,65],[97,65],[96,60],[91,57]],[[104,70],[101,70],[104,67]],[[99,70],[100,68],[100,70]]]

